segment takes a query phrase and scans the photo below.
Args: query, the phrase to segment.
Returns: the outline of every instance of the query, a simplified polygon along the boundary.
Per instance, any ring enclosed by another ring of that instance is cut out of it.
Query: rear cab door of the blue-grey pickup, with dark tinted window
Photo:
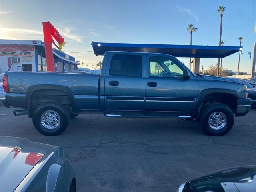
[[[146,55],[110,52],[105,74],[106,110],[144,110]]]

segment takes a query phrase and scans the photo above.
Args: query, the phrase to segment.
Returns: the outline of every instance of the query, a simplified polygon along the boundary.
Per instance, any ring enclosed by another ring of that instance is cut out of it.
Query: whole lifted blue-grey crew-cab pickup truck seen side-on
[[[78,114],[193,119],[212,136],[229,132],[251,107],[239,80],[196,75],[167,54],[104,54],[101,74],[6,72],[2,105],[22,108],[38,132],[58,135]]]

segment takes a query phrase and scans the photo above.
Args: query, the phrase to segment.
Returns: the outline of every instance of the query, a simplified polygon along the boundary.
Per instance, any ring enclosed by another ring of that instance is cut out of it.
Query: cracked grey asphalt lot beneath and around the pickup
[[[207,136],[193,120],[103,115],[79,115],[61,135],[44,136],[13,110],[0,106],[0,135],[64,146],[78,191],[172,192],[202,174],[256,164],[256,109],[221,137]]]

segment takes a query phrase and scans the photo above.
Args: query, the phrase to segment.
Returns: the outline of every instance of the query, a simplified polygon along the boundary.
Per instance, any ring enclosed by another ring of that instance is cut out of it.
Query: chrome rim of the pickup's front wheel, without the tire
[[[222,112],[214,112],[209,116],[208,124],[210,128],[219,130],[223,128],[227,123],[226,115]]]

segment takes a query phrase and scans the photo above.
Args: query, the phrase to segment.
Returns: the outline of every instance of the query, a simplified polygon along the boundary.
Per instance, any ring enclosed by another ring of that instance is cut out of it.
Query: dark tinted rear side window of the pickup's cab
[[[114,55],[110,62],[109,75],[141,77],[142,56]]]

